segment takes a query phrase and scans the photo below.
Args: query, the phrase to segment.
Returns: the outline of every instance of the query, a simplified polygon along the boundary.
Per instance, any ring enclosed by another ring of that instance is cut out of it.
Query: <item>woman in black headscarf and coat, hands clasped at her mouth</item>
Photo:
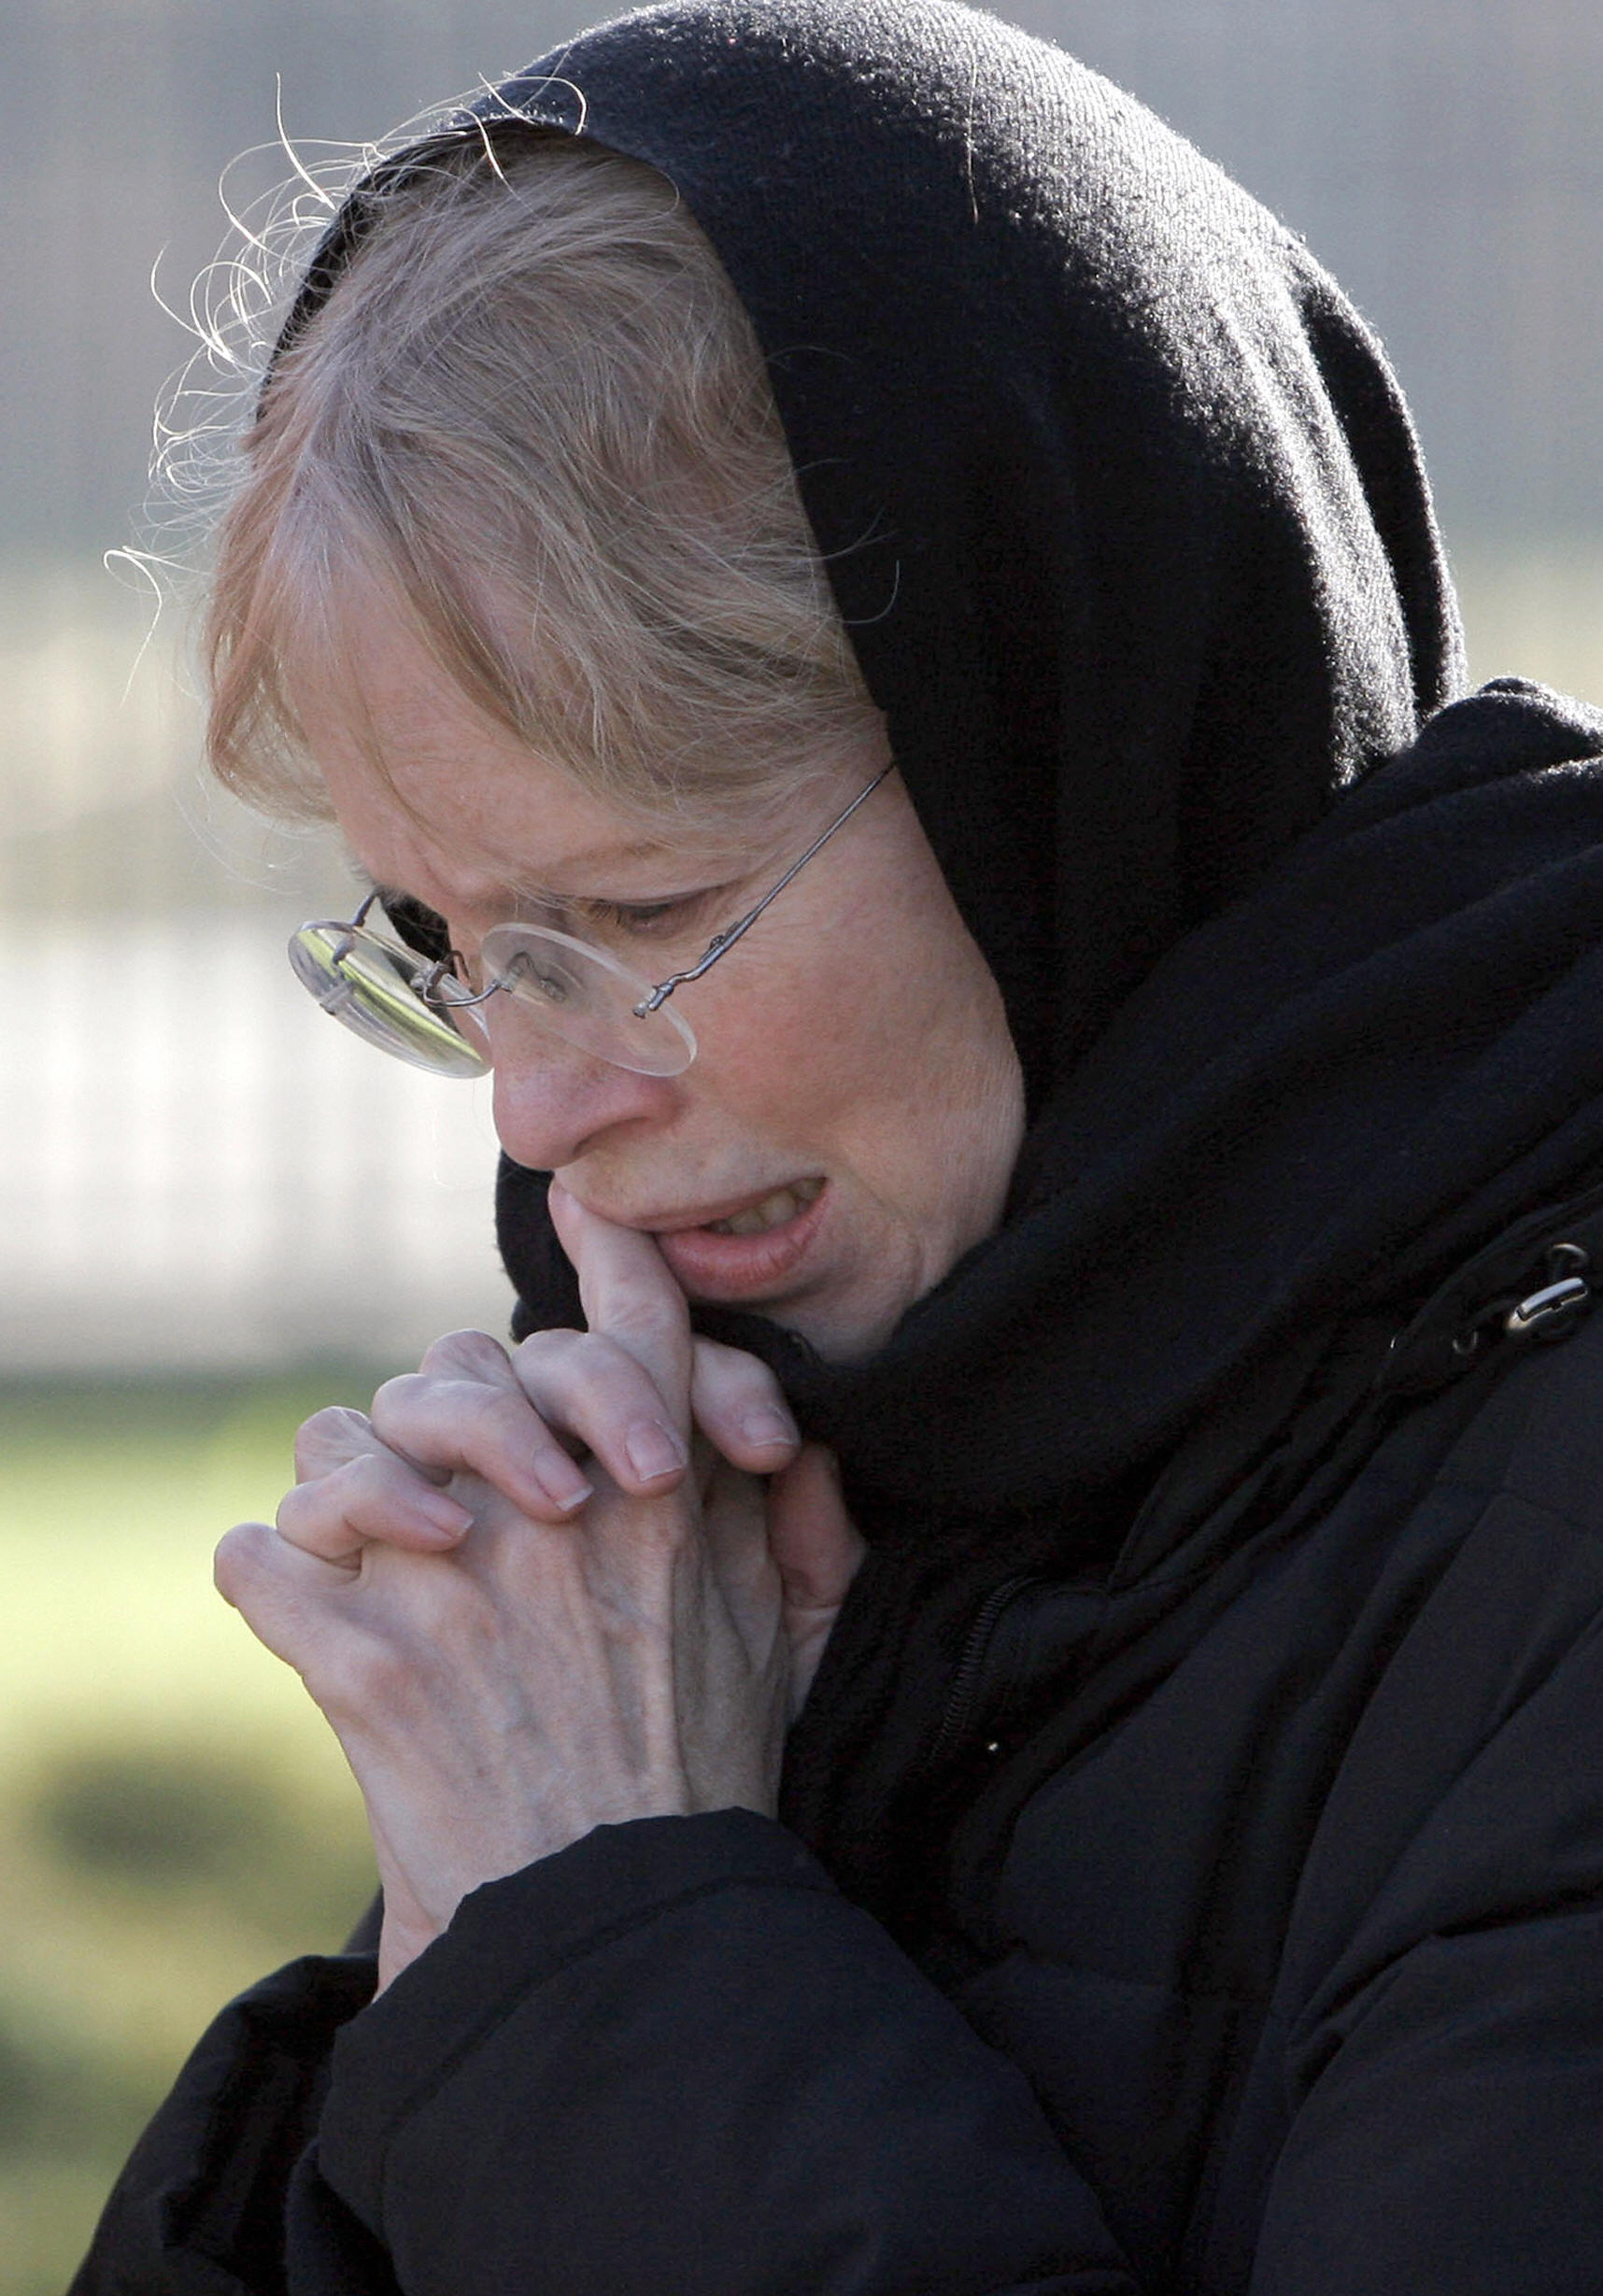
[[[377,1968],[78,2287],[1596,2287],[1603,721],[1302,246],[944,0],[625,18],[347,202],[214,664],[521,1345],[220,1550]]]

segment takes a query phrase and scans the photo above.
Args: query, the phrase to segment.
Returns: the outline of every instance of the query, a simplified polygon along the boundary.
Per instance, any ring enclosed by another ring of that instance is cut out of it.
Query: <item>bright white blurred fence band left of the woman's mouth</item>
[[[30,934],[5,1029],[2,1371],[404,1359],[505,1327],[487,1086],[333,1026],[276,925]]]

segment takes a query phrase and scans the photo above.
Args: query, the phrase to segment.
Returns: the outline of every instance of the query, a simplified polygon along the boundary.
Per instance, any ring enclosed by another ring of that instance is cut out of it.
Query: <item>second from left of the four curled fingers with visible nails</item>
[[[537,1522],[567,1522],[593,1497],[590,1479],[533,1410],[524,1389],[413,1371],[372,1398],[374,1435],[404,1460],[478,1474]]]

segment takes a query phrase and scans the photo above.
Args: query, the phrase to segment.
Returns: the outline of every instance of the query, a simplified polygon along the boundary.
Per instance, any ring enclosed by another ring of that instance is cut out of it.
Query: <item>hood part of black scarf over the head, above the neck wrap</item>
[[[1302,243],[944,0],[691,0],[494,103],[650,161],[769,360],[1036,1102],[1458,680],[1408,416]]]

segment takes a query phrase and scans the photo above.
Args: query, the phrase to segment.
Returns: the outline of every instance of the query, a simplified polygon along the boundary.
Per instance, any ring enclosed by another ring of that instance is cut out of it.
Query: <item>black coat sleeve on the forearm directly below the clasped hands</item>
[[[317,2170],[409,2296],[1135,2289],[1020,2071],[746,1809],[473,1892],[335,2043]]]

